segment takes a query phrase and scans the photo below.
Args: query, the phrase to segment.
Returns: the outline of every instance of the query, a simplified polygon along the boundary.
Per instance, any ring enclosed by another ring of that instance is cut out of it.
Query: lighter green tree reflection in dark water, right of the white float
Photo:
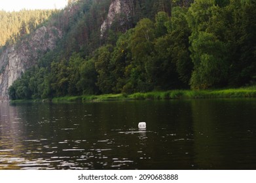
[[[216,106],[208,100],[191,101],[192,119],[194,127],[195,163],[202,169],[219,167],[221,150],[217,133]]]

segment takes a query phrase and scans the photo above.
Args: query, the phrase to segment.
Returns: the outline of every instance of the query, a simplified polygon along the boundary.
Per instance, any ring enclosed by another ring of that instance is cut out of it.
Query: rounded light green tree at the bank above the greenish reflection
[[[227,80],[227,61],[225,44],[212,33],[201,32],[192,42],[194,71],[191,77],[193,89],[206,89],[221,86]],[[196,63],[196,61],[198,61]]]

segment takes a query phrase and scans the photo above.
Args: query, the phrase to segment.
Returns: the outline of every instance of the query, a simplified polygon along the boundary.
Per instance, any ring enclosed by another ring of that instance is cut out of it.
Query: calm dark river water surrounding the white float
[[[256,169],[256,99],[0,104],[0,169]]]

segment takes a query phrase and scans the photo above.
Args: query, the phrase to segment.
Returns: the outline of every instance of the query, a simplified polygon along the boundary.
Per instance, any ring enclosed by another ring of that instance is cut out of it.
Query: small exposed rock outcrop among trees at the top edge
[[[112,0],[107,19],[104,20],[100,27],[101,37],[103,37],[105,31],[111,27],[116,19],[119,21],[120,25],[124,24],[124,22],[129,19],[132,9],[132,7],[130,7],[131,5],[132,3],[128,3],[127,0]],[[124,17],[126,20],[123,20]]]

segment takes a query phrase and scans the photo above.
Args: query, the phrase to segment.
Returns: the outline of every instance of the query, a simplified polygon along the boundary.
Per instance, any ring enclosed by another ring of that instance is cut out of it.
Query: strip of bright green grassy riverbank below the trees
[[[74,102],[74,101],[113,101],[113,100],[162,100],[162,99],[210,99],[210,98],[241,98],[256,97],[256,86],[247,88],[225,89],[225,90],[170,90],[166,92],[147,92],[105,95],[82,95],[56,97],[52,102]]]

